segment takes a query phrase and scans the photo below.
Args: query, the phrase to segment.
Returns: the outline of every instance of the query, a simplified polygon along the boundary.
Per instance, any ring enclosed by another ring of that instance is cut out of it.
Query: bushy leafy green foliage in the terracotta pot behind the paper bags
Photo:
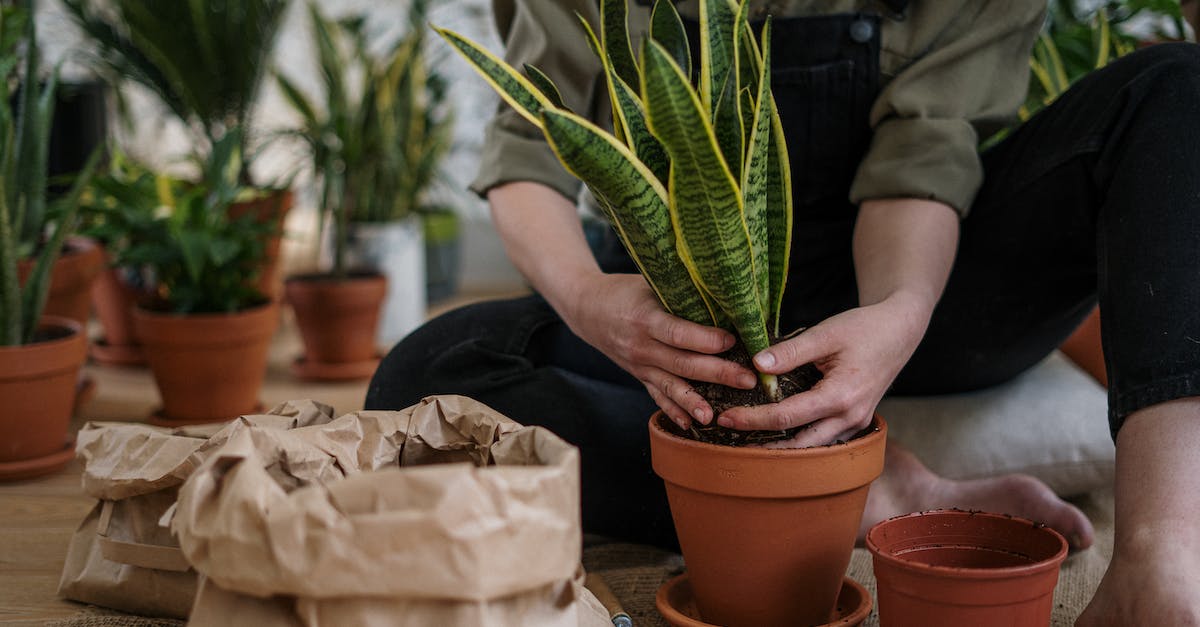
[[[156,174],[116,153],[85,196],[91,226],[114,264],[154,285],[144,303],[175,314],[229,314],[262,304],[254,286],[271,227],[230,204],[250,190],[238,181],[240,137],[218,142],[196,185]]]

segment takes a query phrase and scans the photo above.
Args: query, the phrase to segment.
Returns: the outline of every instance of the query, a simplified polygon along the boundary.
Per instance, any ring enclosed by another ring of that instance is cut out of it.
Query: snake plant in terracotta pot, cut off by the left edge
[[[67,437],[76,380],[86,354],[83,326],[43,316],[50,273],[76,221],[94,154],[56,219],[47,217],[47,147],[56,76],[38,85],[34,2],[0,7],[0,479],[53,472],[74,456]],[[10,79],[24,47],[25,86],[16,112]],[[30,256],[29,276],[18,277]]]

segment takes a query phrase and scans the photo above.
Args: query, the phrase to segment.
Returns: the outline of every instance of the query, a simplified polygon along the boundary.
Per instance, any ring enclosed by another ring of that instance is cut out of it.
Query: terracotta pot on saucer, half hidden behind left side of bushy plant
[[[138,291],[121,277],[121,273],[120,268],[109,265],[91,283],[91,304],[104,335],[92,342],[89,354],[102,364],[142,365],[145,356],[133,334]]]

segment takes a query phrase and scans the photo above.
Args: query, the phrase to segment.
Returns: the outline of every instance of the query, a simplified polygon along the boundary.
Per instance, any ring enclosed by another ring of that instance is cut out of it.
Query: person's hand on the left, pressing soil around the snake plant
[[[672,316],[637,274],[595,274],[578,286],[563,320],[586,342],[634,375],[680,429],[708,424],[713,410],[686,380],[749,389],[750,370],[715,357],[733,347],[731,333]]]

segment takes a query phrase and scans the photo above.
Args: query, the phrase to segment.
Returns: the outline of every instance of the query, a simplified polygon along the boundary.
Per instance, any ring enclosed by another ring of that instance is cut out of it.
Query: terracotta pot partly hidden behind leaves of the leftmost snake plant
[[[89,238],[67,238],[62,255],[50,268],[50,292],[43,314],[71,318],[86,328],[91,317],[91,283],[103,270],[103,249]],[[22,285],[32,271],[32,261],[18,264]]]

